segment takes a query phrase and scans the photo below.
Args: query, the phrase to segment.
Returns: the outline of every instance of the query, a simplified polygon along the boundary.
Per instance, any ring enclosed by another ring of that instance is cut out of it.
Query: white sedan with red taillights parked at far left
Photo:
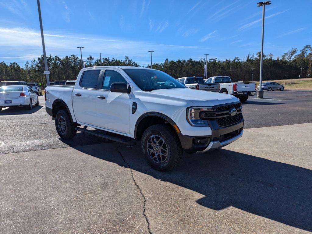
[[[27,85],[7,85],[0,87],[0,111],[4,107],[38,106],[38,95]]]

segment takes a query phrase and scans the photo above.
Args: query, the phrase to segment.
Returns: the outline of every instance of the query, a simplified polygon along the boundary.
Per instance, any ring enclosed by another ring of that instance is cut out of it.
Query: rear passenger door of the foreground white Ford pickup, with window
[[[78,122],[95,125],[97,88],[101,69],[85,70],[72,93],[74,114]]]

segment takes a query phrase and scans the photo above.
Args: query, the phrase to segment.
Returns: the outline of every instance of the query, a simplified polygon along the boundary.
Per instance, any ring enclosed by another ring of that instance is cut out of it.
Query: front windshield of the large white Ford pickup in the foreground
[[[167,73],[149,69],[123,69],[133,82],[143,91],[157,89],[186,88],[178,80]]]

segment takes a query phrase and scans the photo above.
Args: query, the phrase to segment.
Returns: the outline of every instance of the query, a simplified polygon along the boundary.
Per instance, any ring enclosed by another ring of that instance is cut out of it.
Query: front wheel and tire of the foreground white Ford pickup
[[[147,163],[158,171],[170,171],[182,161],[180,140],[166,124],[156,124],[147,128],[142,136],[141,149]]]

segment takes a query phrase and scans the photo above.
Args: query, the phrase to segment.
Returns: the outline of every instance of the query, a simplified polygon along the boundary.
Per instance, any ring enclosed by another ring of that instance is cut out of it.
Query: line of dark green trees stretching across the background
[[[304,46],[298,53],[297,48],[285,52],[283,55],[273,59],[272,54],[264,55],[263,80],[294,79],[299,75],[303,78],[312,76],[312,47]],[[76,55],[47,57],[50,81],[54,80],[76,80],[81,69],[81,60]],[[154,69],[168,73],[174,78],[185,76],[204,76],[204,59],[178,59],[168,60],[163,63],[154,63]],[[86,59],[86,67],[90,66],[140,66],[128,56],[124,59],[94,59],[91,55]],[[150,65],[147,66],[150,68]],[[252,69],[253,68],[253,69]],[[302,68],[302,69],[301,69]],[[37,82],[46,84],[43,56],[27,61],[23,67],[16,62],[6,64],[0,62],[0,81],[23,80],[26,82]],[[253,74],[252,74],[253,73]],[[248,54],[241,60],[236,57],[233,60],[209,59],[207,61],[207,77],[230,76],[233,81],[259,80],[260,73],[260,52],[256,55]],[[252,78],[253,77],[253,78]]]

